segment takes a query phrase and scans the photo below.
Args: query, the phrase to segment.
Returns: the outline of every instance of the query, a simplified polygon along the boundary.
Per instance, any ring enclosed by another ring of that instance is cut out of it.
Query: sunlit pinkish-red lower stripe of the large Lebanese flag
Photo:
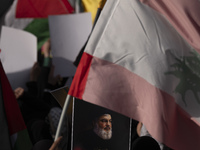
[[[97,57],[89,67],[83,100],[143,122],[155,139],[173,149],[200,147],[199,124],[173,96],[126,68]]]

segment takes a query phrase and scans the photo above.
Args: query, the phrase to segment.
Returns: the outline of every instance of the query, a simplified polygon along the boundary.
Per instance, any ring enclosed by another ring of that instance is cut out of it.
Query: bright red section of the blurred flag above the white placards
[[[16,18],[47,18],[73,12],[68,0],[18,0]]]

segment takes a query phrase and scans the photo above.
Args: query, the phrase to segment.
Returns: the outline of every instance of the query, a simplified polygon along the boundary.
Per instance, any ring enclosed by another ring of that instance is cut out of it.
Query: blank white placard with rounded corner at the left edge
[[[25,87],[30,71],[37,61],[37,39],[23,30],[3,26],[0,59],[13,89]]]

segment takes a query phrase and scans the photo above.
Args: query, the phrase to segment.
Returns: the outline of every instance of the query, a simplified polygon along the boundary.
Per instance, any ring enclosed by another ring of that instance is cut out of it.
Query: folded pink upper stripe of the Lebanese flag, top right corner
[[[166,16],[184,39],[200,52],[200,2],[198,0],[140,1]]]

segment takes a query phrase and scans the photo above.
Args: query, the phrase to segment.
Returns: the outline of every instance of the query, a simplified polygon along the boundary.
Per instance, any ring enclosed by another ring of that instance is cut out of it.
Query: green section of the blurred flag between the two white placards
[[[25,28],[25,31],[34,34],[37,37],[37,49],[39,50],[50,37],[48,19],[34,19]]]

